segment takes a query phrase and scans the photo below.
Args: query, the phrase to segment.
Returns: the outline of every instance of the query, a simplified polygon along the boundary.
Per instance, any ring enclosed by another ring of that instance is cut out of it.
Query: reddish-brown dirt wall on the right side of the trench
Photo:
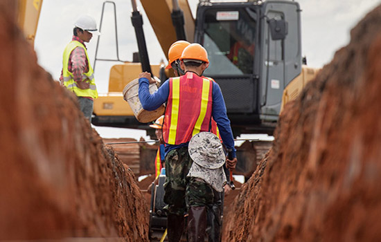
[[[381,240],[380,53],[381,6],[286,106],[224,241]]]

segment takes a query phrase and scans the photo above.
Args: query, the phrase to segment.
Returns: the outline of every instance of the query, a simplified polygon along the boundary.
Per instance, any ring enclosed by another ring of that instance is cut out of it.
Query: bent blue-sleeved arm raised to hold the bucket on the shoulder
[[[149,82],[145,77],[139,78],[139,100],[143,109],[153,111],[167,101],[169,95],[169,82],[164,82],[160,88],[150,94]]]

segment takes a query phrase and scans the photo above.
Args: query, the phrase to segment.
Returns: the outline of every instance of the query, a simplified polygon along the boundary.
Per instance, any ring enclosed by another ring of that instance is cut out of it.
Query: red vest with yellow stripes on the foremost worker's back
[[[188,142],[196,133],[209,131],[213,82],[188,72],[170,78],[163,124],[163,140],[169,145]]]

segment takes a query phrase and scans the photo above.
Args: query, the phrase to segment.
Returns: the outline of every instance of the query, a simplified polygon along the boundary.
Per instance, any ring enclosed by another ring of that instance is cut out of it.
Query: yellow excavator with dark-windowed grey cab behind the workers
[[[206,48],[211,64],[204,75],[221,87],[234,136],[272,135],[281,107],[296,98],[317,73],[317,69],[302,65],[301,9],[296,1],[200,1],[195,19],[186,0],[141,3],[163,53],[168,53],[170,44],[179,39]],[[92,122],[98,126],[145,129],[154,137],[148,124],[139,123],[123,102],[121,91],[141,71],[152,73],[162,82],[172,73],[164,71],[163,63],[150,65],[135,0],[132,6],[140,63],[112,67],[109,92],[94,102]],[[287,86],[292,90],[287,91]]]

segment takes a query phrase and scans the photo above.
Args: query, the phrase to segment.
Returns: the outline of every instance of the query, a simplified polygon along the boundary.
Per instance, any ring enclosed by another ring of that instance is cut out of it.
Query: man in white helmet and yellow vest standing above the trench
[[[96,21],[89,15],[82,15],[74,24],[71,42],[64,49],[60,82],[78,97],[80,110],[91,123],[94,99],[98,97],[85,42],[93,35],[100,35]]]

